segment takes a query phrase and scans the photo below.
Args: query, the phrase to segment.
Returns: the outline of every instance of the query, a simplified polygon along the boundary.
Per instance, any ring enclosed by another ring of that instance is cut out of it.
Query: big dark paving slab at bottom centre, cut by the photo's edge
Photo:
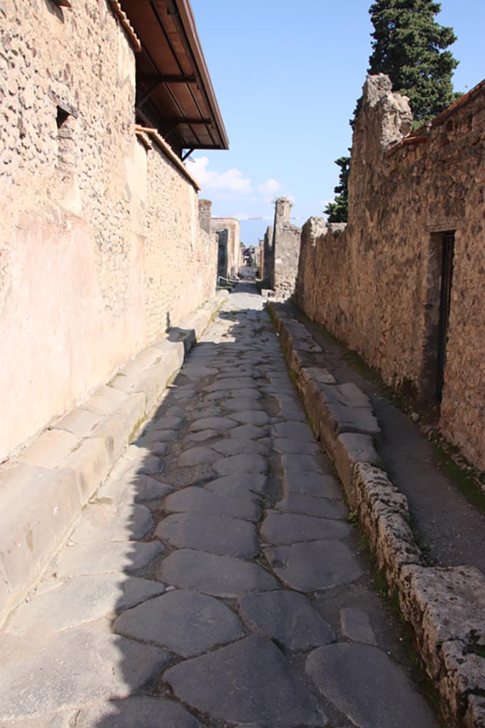
[[[262,728],[323,726],[316,700],[264,637],[248,637],[170,668],[164,675],[184,703],[231,723]]]

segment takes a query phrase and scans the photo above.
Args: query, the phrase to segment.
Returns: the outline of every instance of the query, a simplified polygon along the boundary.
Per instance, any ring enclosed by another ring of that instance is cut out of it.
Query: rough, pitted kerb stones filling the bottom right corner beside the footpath
[[[471,566],[404,566],[399,599],[448,724],[484,727],[484,575]]]

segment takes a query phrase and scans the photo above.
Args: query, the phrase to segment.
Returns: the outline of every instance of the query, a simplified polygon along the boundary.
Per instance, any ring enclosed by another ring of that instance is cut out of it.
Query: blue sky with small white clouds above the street
[[[351,142],[348,119],[371,52],[370,0],[191,0],[229,151],[196,151],[188,168],[212,214],[241,218],[254,245],[271,224],[271,200],[294,199],[294,223],[333,199],[334,159]],[[443,0],[460,60],[454,87],[485,77],[485,0]],[[245,218],[261,217],[248,221]]]

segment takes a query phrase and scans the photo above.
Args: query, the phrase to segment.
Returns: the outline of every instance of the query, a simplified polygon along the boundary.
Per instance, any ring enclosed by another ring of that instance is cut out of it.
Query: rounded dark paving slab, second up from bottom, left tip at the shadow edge
[[[175,590],[121,614],[114,630],[183,657],[194,657],[243,636],[241,622],[222,602],[193,590]]]

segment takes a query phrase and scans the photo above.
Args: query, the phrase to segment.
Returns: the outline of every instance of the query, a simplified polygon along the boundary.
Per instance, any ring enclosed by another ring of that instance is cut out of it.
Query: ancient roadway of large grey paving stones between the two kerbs
[[[0,727],[436,728],[239,287],[0,638]]]

